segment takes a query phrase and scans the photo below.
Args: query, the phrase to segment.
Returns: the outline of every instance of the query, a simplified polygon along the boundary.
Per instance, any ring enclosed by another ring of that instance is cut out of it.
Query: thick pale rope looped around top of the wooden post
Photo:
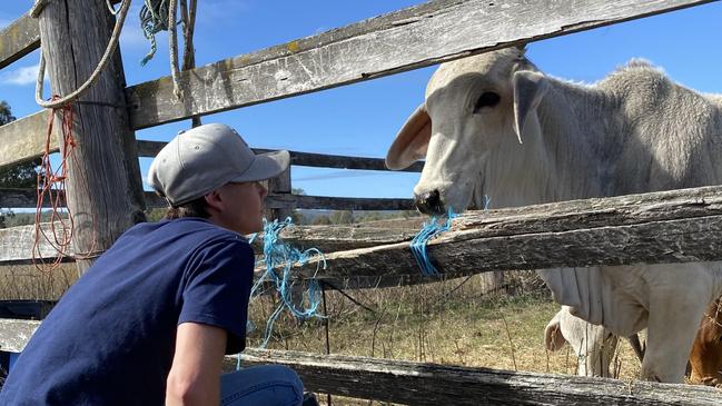
[[[38,0],[31,10],[31,16],[36,11],[36,7],[40,7],[40,10],[42,10],[42,7],[44,7],[48,3],[48,1],[49,0]],[[55,109],[60,106],[67,105],[76,100],[77,98],[79,98],[92,83],[95,83],[95,81],[100,76],[102,69],[105,69],[106,66],[108,65],[108,61],[112,56],[112,52],[118,47],[118,39],[120,38],[122,23],[126,20],[126,16],[128,16],[129,8],[130,8],[130,0],[123,0],[122,3],[120,4],[120,10],[118,11],[118,16],[116,18],[116,27],[112,29],[112,36],[110,37],[110,41],[108,42],[108,47],[106,48],[106,53],[98,62],[96,70],[92,72],[92,75],[90,75],[88,80],[86,80],[86,82],[82,83],[76,91],[73,91],[72,93],[63,98],[53,101],[46,101],[42,99],[42,81],[46,75],[46,58],[44,58],[44,52],[42,52],[42,50],[40,51],[40,68],[38,69],[38,81],[36,82],[36,102],[40,105],[40,107],[43,107],[46,109]],[[40,13],[40,11],[37,12],[38,14]]]

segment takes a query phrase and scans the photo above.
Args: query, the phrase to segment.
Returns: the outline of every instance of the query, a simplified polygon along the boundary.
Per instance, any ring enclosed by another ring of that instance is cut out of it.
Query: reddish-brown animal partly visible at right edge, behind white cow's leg
[[[713,301],[706,309],[690,355],[693,382],[722,384],[722,303]]]

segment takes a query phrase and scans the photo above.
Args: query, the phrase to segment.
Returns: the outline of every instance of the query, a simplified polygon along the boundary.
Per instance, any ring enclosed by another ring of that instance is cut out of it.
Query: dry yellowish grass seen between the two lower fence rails
[[[510,274],[511,275],[511,274]],[[516,277],[513,296],[488,294],[479,276],[423,286],[356,290],[348,294],[374,313],[337,291],[327,293],[330,351],[438,364],[489,367],[536,373],[574,374],[576,358],[568,346],[556,353],[544,348],[544,327],[558,310],[534,274]],[[508,279],[508,278],[507,278]],[[521,288],[521,289],[520,289]],[[452,293],[453,290],[453,293]],[[451,294],[449,294],[451,293]],[[273,298],[251,304],[256,326],[249,345],[261,341]],[[325,351],[325,321],[297,324],[279,319],[268,348]],[[640,363],[626,341],[616,358],[619,377],[639,376]]]

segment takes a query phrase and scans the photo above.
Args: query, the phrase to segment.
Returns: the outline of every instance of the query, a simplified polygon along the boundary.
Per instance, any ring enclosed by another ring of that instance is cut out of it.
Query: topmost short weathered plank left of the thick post
[[[40,47],[38,20],[26,12],[0,31],[0,69]]]

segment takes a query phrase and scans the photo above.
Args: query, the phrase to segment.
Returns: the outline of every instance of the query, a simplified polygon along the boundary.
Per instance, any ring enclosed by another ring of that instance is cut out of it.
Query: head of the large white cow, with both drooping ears
[[[485,155],[504,142],[538,133],[536,107],[546,78],[517,48],[443,63],[426,88],[426,101],[408,118],[386,156],[389,169],[426,157],[414,188],[426,214],[465,210]]]

